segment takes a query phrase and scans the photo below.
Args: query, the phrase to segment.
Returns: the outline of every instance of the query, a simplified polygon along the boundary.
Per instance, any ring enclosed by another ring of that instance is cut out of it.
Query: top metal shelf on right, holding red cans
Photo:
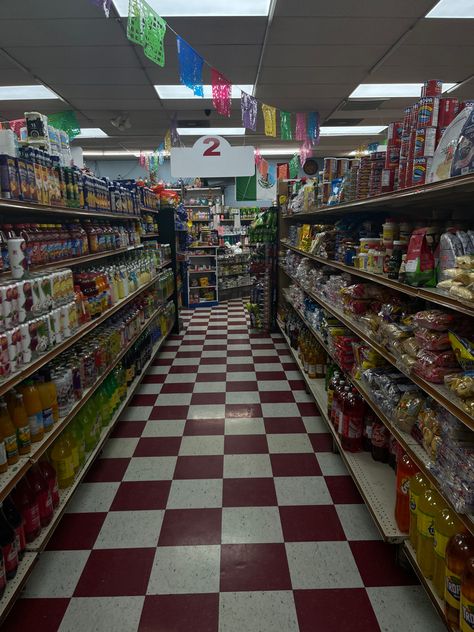
[[[299,217],[318,217],[321,215],[340,215],[343,213],[358,213],[361,211],[400,211],[408,209],[433,208],[472,208],[472,194],[474,192],[474,176],[465,175],[448,178],[439,182],[410,187],[393,193],[382,193],[363,200],[343,202],[334,206],[324,206],[303,213],[281,215],[284,219],[298,219]]]

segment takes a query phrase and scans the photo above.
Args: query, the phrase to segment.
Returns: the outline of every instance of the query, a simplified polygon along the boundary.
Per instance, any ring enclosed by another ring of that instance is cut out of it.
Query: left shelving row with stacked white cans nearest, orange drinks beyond
[[[159,273],[158,252],[130,252],[115,265],[65,269],[0,285],[0,377],[27,365],[157,277],[164,300],[173,273]]]

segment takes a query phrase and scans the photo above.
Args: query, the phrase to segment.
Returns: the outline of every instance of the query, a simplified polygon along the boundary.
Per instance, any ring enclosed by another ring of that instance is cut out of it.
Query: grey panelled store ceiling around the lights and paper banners
[[[168,22],[234,84],[256,82],[255,95],[263,102],[294,112],[319,110],[322,120],[330,120],[331,125],[341,119],[380,125],[402,116],[414,99],[347,103],[360,83],[469,79],[453,95],[474,97],[473,20],[424,19],[435,4],[435,0],[276,0],[271,20],[173,17]],[[166,66],[160,68],[127,40],[126,19],[112,12],[115,17],[106,19],[90,0],[3,0],[0,85],[44,83],[65,103],[0,101],[0,117],[19,118],[25,110],[52,113],[73,108],[83,127],[100,127],[110,136],[81,140],[89,150],[154,149],[175,112],[180,121],[240,126],[238,99],[229,120],[217,115],[207,100],[160,102],[153,85],[179,83],[175,37],[168,32]],[[210,83],[208,69],[204,80]],[[210,117],[204,112],[207,108],[212,110]],[[120,132],[110,121],[123,112],[131,127]],[[259,119],[256,134],[231,142],[262,148],[284,145],[263,135]],[[321,139],[317,154],[346,155],[375,139],[327,137]],[[190,145],[193,139],[184,141]]]

